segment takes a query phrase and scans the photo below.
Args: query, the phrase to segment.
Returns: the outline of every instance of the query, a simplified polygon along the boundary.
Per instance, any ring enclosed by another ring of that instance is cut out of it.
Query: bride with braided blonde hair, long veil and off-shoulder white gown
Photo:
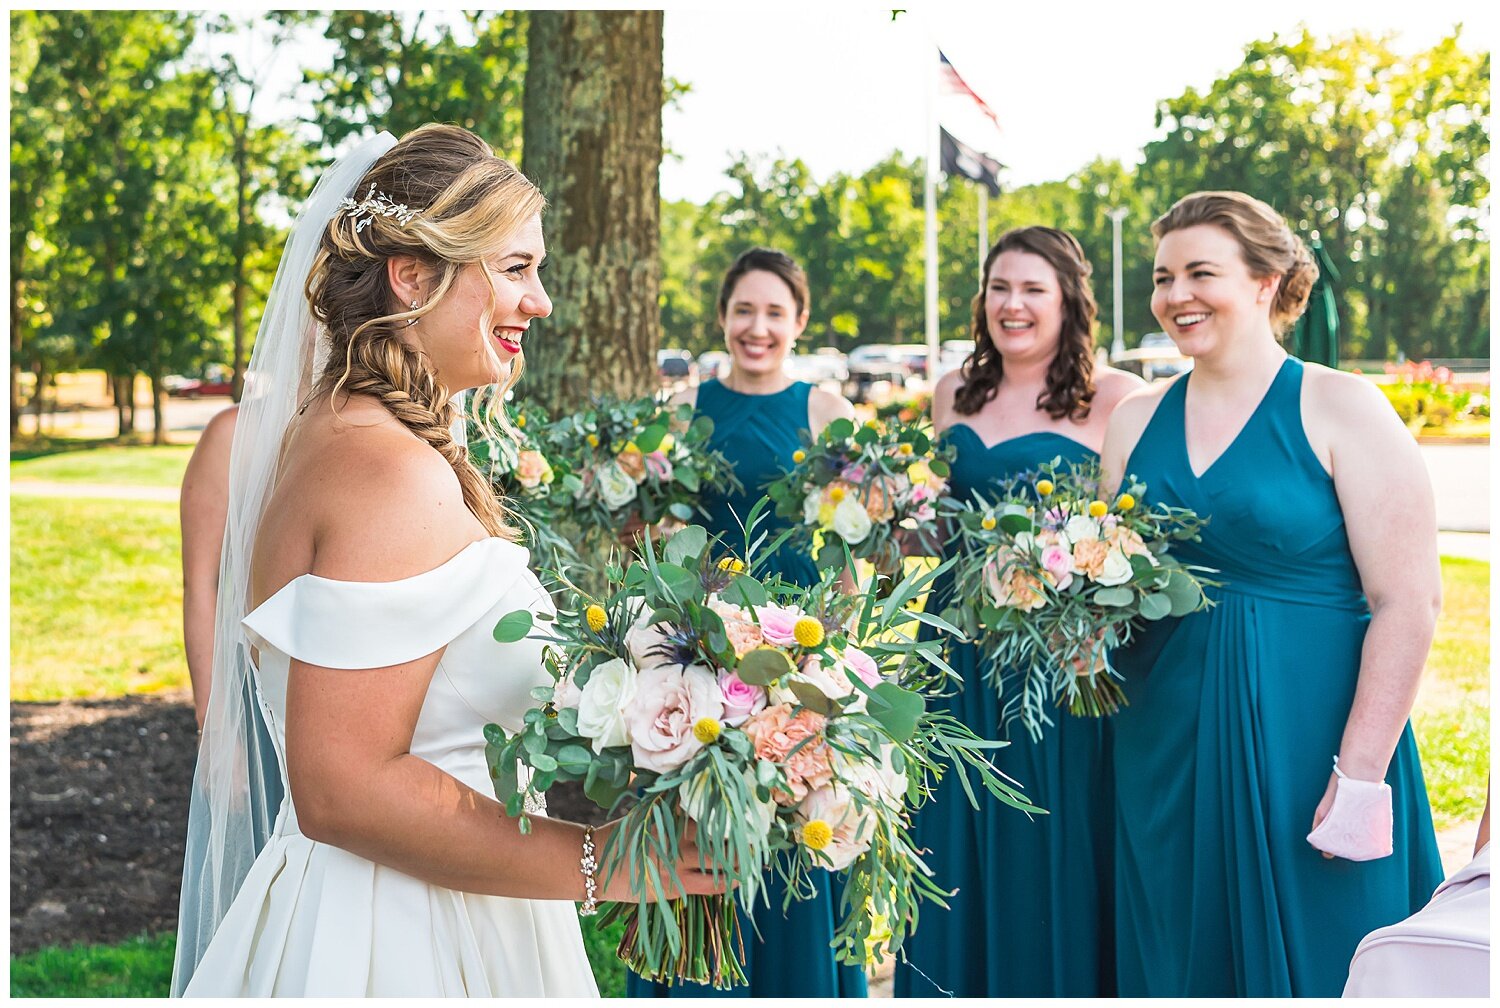
[[[490,632],[550,602],[450,432],[448,396],[513,386],[552,310],[543,204],[430,124],[334,164],[288,238],[234,435],[174,993],[597,994],[572,902],[638,897],[594,878],[612,826],[524,836],[492,798],[483,724],[519,729],[548,674]],[[690,846],[675,868],[720,888]]]

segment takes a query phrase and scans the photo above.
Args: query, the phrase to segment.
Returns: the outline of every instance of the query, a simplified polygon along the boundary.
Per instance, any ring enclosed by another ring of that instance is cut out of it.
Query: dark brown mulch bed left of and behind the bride
[[[177,928],[198,734],[186,693],[10,704],[10,952]],[[598,822],[576,789],[552,814]]]

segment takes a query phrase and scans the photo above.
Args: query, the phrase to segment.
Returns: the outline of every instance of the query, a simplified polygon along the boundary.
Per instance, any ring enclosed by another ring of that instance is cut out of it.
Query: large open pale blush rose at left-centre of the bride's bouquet
[[[700,666],[657,666],[636,676],[636,694],[626,705],[626,730],[636,766],[658,774],[676,770],[704,747],[693,726],[705,717],[723,720],[723,693]]]

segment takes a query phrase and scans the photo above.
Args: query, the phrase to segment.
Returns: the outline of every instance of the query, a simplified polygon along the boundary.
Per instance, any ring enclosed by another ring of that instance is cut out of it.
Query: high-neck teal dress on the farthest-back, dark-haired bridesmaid
[[[735,466],[735,477],[744,486],[738,494],[708,490],[704,506],[708,519],[704,526],[711,536],[723,536],[734,554],[744,550],[741,522],[766,488],[792,468],[792,453],[801,447],[800,434],[808,429],[807,396],[812,386],[798,381],[768,396],[753,396],[726,388],[717,378],[698,387],[696,411],[714,422],[710,447],[723,452]],[[776,538],[788,528],[788,519],[766,512],[760,528],[766,538]],[[777,550],[758,574],[778,573],[788,582],[812,585],[818,580],[818,566],[812,556],[786,549]],[[837,924],[837,896],[842,879],[828,872],[816,873],[818,898],[792,903],[782,914],[786,892],[772,873],[766,890],[771,904],[758,903],[754,927],[740,912],[740,930],[746,944],[746,976],[748,986],[714,990],[702,984],[660,984],[630,974],[626,993],[630,998],[864,998],[867,984],[864,968],[840,964],[828,944]],[[759,939],[756,938],[759,928]]]

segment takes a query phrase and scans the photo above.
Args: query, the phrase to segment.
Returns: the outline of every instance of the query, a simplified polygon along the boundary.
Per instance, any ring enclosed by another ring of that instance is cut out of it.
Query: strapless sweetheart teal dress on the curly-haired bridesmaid
[[[1062,456],[1095,453],[1050,430],[986,446],[966,424],[944,440],[957,448],[951,488],[969,501],[993,496],[1005,480]],[[948,554],[957,546],[950,542]],[[945,579],[928,609],[952,591]],[[922,628],[927,630],[926,627]],[[927,634],[930,636],[930,634]],[[963,686],[948,710],[984,738],[1005,738],[1000,699],[986,681],[972,644],[954,642],[948,662]],[[1114,993],[1113,878],[1114,808],[1106,762],[1106,718],[1052,711],[1052,726],[1032,741],[1016,723],[994,764],[1050,814],[1029,818],[984,796],[975,810],[948,774],[933,801],[918,810],[914,838],[928,849],[933,880],[958,892],[948,910],[922,910],[916,933],[897,958],[897,998],[1100,998]]]

